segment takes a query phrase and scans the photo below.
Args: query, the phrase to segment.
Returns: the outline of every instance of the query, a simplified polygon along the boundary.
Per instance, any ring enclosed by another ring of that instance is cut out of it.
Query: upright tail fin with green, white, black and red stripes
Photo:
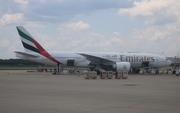
[[[22,26],[17,26],[17,31],[26,52],[36,52],[41,54],[44,48],[32,37],[32,35]]]

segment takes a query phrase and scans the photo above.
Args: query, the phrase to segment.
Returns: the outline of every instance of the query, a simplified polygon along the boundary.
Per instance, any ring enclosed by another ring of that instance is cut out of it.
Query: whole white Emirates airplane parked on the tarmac
[[[166,57],[151,53],[117,52],[60,52],[46,51],[22,26],[17,26],[25,52],[15,51],[16,56],[43,64],[60,67],[84,67],[91,70],[129,71],[130,68],[149,66],[160,68],[171,64]]]

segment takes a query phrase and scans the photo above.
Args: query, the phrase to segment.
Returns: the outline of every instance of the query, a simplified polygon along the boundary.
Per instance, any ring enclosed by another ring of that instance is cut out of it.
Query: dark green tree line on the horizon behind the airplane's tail
[[[0,66],[39,66],[41,63],[23,59],[0,59]]]

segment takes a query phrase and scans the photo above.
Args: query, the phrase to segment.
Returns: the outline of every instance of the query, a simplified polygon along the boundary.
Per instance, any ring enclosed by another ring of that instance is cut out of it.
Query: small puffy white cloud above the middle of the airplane
[[[88,29],[90,27],[88,23],[83,23],[82,21],[79,21],[77,23],[69,23],[65,26],[72,30],[83,30],[83,29]]]

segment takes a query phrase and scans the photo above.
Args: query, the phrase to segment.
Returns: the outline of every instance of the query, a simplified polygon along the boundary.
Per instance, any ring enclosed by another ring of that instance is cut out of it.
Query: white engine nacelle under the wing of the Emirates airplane
[[[113,65],[113,68],[116,71],[129,71],[130,70],[130,63],[129,62],[117,62]]]

